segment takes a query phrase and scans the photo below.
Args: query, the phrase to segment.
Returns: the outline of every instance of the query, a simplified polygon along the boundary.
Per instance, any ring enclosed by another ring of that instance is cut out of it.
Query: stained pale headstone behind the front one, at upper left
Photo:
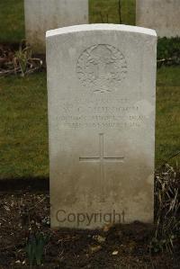
[[[88,0],[24,0],[26,40],[45,53],[46,31],[88,23]]]

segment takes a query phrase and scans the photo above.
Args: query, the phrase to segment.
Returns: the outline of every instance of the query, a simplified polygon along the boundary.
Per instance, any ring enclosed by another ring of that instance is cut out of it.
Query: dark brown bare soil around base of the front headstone
[[[30,268],[25,246],[37,231],[49,235],[41,268],[180,268],[177,257],[150,253],[153,227],[147,224],[50,229],[48,181],[35,182],[0,182],[0,268]]]

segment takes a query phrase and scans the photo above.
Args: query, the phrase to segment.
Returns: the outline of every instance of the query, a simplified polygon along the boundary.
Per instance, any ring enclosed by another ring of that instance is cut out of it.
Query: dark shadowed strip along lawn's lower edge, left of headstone
[[[49,192],[49,177],[17,177],[0,180],[0,192]]]

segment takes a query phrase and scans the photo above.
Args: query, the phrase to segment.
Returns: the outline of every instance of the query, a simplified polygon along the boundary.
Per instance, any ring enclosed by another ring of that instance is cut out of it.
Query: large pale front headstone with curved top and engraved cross
[[[156,32],[47,32],[51,227],[153,221]]]

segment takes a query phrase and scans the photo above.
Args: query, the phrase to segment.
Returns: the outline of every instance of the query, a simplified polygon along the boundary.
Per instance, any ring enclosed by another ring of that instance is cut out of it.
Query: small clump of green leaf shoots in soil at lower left
[[[30,265],[41,265],[44,253],[44,247],[49,240],[49,236],[43,233],[36,233],[31,235],[27,240],[25,247]]]

